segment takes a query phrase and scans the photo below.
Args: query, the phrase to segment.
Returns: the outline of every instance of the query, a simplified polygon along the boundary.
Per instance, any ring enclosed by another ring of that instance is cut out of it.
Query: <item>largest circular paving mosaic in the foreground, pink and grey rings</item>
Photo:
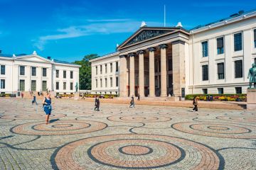
[[[163,135],[107,135],[71,142],[55,154],[59,169],[219,169],[222,157],[191,140]]]

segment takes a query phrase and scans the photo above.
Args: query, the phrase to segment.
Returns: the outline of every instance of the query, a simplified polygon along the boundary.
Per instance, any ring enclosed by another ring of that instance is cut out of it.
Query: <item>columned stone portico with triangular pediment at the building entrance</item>
[[[144,26],[118,50],[121,97],[179,97],[181,89],[186,89],[187,30]]]

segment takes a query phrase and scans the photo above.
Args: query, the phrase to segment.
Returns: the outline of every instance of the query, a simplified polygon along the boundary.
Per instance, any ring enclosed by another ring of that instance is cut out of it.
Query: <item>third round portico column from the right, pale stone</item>
[[[144,93],[144,50],[140,50],[139,54],[139,96],[145,96]]]

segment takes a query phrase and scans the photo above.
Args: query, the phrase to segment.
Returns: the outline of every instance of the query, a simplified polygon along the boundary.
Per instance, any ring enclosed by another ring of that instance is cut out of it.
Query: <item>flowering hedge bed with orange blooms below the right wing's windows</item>
[[[246,101],[246,94],[188,94],[186,100],[193,100],[195,96],[200,101],[206,101],[206,96],[213,96],[213,101]]]

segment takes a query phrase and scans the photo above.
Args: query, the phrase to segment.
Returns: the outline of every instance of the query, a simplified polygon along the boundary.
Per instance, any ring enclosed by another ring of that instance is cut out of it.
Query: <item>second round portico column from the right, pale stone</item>
[[[154,72],[154,51],[156,48],[149,48],[149,96],[155,96],[155,72]]]

